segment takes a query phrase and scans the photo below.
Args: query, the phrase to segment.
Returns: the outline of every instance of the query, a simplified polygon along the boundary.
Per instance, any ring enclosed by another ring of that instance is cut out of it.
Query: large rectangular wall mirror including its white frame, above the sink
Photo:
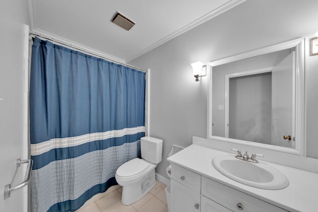
[[[208,63],[208,139],[305,155],[304,39]]]

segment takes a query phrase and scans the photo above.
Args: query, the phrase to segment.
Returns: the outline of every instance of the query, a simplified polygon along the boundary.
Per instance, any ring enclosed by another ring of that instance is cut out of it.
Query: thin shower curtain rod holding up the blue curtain
[[[70,44],[68,44],[68,43],[65,43],[65,42],[62,42],[62,41],[59,41],[59,40],[56,40],[56,39],[53,39],[53,38],[49,38],[49,37],[47,37],[47,36],[43,36],[43,35],[38,34],[38,33],[36,33],[36,32],[30,31],[30,32],[29,32],[29,35],[31,35],[31,37],[33,37],[33,38],[34,38],[35,36],[38,36],[38,37],[40,37],[41,39],[44,38],[44,39],[49,40],[49,41],[52,41],[52,42],[54,42],[54,43],[62,44],[63,46],[67,46],[67,47],[69,47],[69,48],[71,48],[71,49],[79,50],[80,52],[83,52],[83,53],[85,53],[85,54],[88,53],[89,55],[96,56],[97,58],[105,59],[106,61],[109,61],[109,62],[113,62],[113,63],[120,64],[120,65],[124,65],[124,66],[126,66],[126,67],[130,67],[130,68],[136,69],[136,70],[138,70],[138,71],[143,71],[143,72],[146,72],[146,73],[148,72],[148,70],[140,69],[140,68],[138,68],[138,67],[135,67],[135,66],[132,66],[132,65],[129,65],[129,64],[126,64],[126,63],[123,63],[123,62],[120,62],[120,61],[111,59],[111,58],[109,58],[109,57],[102,56],[102,55],[97,54],[97,53],[95,53],[95,52],[93,52],[93,51],[81,49],[81,48],[79,48],[79,47],[70,45]]]

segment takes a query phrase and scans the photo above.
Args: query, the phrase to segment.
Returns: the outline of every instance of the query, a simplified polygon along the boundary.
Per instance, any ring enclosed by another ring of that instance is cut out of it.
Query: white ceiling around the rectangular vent
[[[245,0],[28,0],[31,31],[129,62]],[[135,21],[127,31],[116,11]]]

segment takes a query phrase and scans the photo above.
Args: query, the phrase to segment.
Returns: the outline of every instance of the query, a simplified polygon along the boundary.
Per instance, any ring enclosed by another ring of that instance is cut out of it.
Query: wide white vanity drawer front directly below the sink
[[[274,205],[202,177],[202,195],[234,212],[286,212]],[[241,209],[239,209],[241,204]]]

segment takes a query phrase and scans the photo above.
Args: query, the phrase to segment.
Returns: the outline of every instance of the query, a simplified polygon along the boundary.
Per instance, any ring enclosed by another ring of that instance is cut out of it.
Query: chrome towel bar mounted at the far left
[[[24,186],[26,186],[27,184],[29,184],[30,180],[31,180],[31,173],[32,173],[32,166],[33,166],[33,160],[21,160],[20,158],[16,159],[16,170],[12,179],[12,182],[14,180],[15,174],[17,172],[17,169],[20,167],[21,163],[27,163],[28,166],[26,168],[26,173],[25,173],[25,177],[24,177],[24,181],[18,185],[15,186],[11,186],[11,184],[7,184],[4,186],[4,200],[6,198],[10,197],[10,194],[12,191],[18,190]],[[11,182],[11,183],[12,183]]]

